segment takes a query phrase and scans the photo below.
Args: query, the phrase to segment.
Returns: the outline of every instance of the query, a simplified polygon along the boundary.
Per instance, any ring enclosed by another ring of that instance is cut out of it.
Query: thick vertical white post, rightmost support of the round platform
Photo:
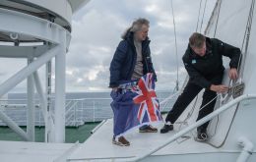
[[[65,141],[66,32],[58,32],[61,43],[55,57],[55,141]]]

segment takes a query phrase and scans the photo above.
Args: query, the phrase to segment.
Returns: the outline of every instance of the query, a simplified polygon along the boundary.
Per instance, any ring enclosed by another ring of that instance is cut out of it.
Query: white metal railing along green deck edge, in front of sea
[[[168,110],[172,107],[171,98],[159,98],[160,110]],[[100,122],[112,118],[110,107],[111,98],[81,98],[66,100],[66,126],[80,126],[85,122]],[[163,102],[162,102],[163,101]],[[54,106],[55,100],[52,98],[50,105]],[[35,107],[35,126],[44,126],[44,120],[40,109],[39,100],[34,100]],[[26,99],[1,99],[0,110],[5,112],[18,125],[27,125],[27,100]],[[54,108],[52,109],[54,110]],[[0,125],[5,126],[4,123]]]

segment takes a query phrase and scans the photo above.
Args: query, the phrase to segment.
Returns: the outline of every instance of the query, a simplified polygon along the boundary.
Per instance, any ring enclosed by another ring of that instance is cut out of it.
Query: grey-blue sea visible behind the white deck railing
[[[169,91],[158,91],[157,96],[160,101],[170,96],[172,93]],[[52,94],[54,96],[54,94]],[[50,110],[54,111],[54,97],[51,97]],[[168,111],[173,103],[171,99],[164,108],[160,110]],[[103,92],[66,92],[66,126],[80,126],[86,122],[99,122],[113,117],[112,109],[110,107],[112,99],[110,91]],[[38,95],[34,95],[35,105],[35,125],[43,126],[42,112],[39,109]],[[1,110],[4,111],[9,117],[20,126],[27,125],[27,93],[9,93],[7,98],[2,99]],[[1,124],[0,125],[5,125]]]

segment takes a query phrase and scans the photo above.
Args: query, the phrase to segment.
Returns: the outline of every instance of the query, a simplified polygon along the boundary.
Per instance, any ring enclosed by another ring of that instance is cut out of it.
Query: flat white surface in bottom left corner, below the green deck
[[[53,162],[74,143],[0,141],[1,162]]]

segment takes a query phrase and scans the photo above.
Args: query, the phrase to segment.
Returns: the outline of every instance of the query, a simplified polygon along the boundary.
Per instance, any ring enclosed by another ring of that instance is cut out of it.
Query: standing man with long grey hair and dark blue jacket
[[[131,27],[122,34],[122,40],[116,48],[110,64],[110,82],[112,88],[111,107],[114,112],[114,135],[112,142],[117,145],[128,146],[130,142],[123,136],[127,126],[128,103],[133,101],[131,89],[137,85],[137,81],[148,73],[153,74],[155,81],[157,76],[153,67],[148,37],[150,22],[147,19],[135,20]],[[129,82],[129,86],[121,87],[122,83]],[[135,82],[135,83],[134,83]],[[118,113],[116,113],[118,111]],[[120,111],[127,111],[122,112]],[[156,133],[158,129],[151,125],[144,125],[140,133]]]

